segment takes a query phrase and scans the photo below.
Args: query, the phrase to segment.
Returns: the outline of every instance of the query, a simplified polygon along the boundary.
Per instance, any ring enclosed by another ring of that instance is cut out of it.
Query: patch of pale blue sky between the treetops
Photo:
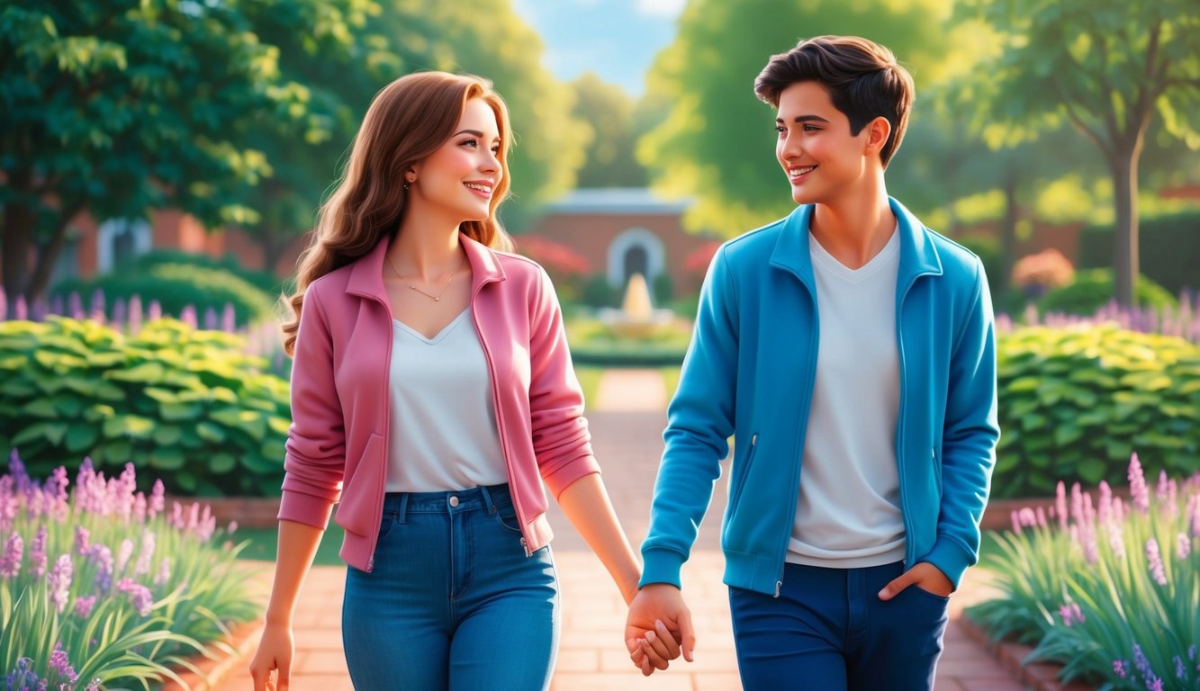
[[[514,0],[517,14],[541,34],[542,64],[571,80],[595,72],[641,96],[654,56],[674,38],[685,0]]]

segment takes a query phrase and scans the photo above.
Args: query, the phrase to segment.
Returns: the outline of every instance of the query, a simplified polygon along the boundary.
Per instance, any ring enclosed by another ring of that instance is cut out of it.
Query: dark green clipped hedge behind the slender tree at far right
[[[1147,218],[1138,229],[1141,270],[1172,295],[1184,288],[1200,290],[1200,211]],[[1079,265],[1112,264],[1112,224],[1091,226],[1080,233]],[[1145,278],[1142,278],[1145,281]]]

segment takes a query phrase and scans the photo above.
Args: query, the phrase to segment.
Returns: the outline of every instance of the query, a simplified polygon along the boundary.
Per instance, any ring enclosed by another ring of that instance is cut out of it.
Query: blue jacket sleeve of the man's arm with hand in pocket
[[[974,296],[955,335],[942,429],[942,506],[937,541],[920,558],[958,588],[979,560],[979,521],[996,463],[996,325],[988,278],[976,259]]]

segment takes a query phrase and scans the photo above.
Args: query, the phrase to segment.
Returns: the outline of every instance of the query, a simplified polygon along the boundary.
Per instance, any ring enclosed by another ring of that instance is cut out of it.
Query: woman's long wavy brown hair
[[[496,218],[508,196],[509,112],[492,83],[470,74],[418,72],[384,86],[362,119],[342,181],[322,205],[317,228],[296,268],[293,318],[283,324],[283,349],[295,353],[304,295],[313,281],[362,257],[397,230],[408,193],[404,172],[438,150],[454,133],[469,98],[482,98],[496,113],[503,175],[493,188],[487,218],[464,221],[460,230],[497,250],[512,239]]]

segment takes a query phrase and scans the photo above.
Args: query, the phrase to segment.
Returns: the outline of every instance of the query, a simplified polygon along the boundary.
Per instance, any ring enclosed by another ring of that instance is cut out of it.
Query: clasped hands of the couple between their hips
[[[637,591],[625,620],[625,648],[642,674],[666,669],[680,654],[691,662],[695,645],[691,612],[678,588],[652,583]]]

